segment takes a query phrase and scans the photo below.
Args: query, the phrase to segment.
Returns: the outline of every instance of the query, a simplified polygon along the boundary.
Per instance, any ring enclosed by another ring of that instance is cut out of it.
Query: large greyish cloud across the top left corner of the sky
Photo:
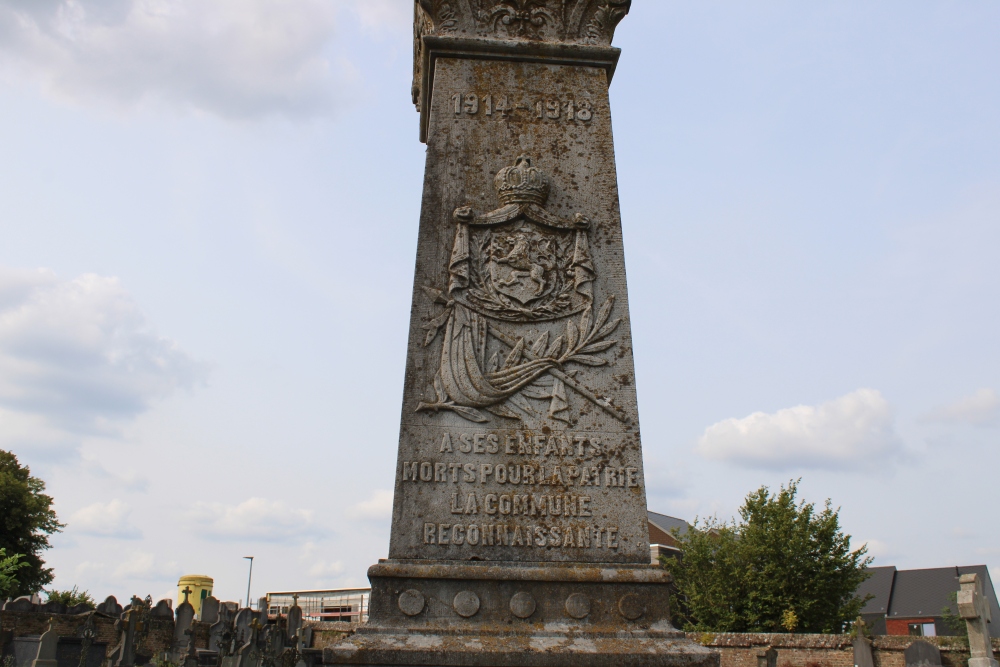
[[[370,20],[384,3],[375,4],[365,10]],[[334,105],[343,83],[346,68],[326,52],[338,7],[329,0],[0,0],[0,70],[72,99],[159,100],[225,117],[312,116]]]

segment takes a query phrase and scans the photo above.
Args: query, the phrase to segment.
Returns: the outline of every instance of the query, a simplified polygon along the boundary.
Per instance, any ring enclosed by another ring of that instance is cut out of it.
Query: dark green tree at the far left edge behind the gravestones
[[[37,593],[52,581],[52,568],[45,567],[41,552],[63,524],[52,509],[52,497],[43,491],[45,482],[32,477],[14,454],[0,450],[0,549],[22,554],[26,564],[8,592],[11,596]]]

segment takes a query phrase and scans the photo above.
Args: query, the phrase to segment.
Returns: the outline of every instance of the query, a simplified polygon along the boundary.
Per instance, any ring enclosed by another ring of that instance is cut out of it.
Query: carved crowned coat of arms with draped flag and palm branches
[[[567,387],[617,419],[623,417],[576,379],[615,345],[620,324],[610,319],[614,297],[594,312],[591,222],[547,211],[545,174],[527,156],[501,169],[494,181],[500,208],[476,215],[454,212],[455,239],[446,289],[424,291],[444,310],[424,328],[424,346],[443,330],[440,363],[428,400],[417,411],[452,411],[486,422],[483,411],[510,419],[539,414],[569,421]],[[519,331],[540,330],[529,340]]]

